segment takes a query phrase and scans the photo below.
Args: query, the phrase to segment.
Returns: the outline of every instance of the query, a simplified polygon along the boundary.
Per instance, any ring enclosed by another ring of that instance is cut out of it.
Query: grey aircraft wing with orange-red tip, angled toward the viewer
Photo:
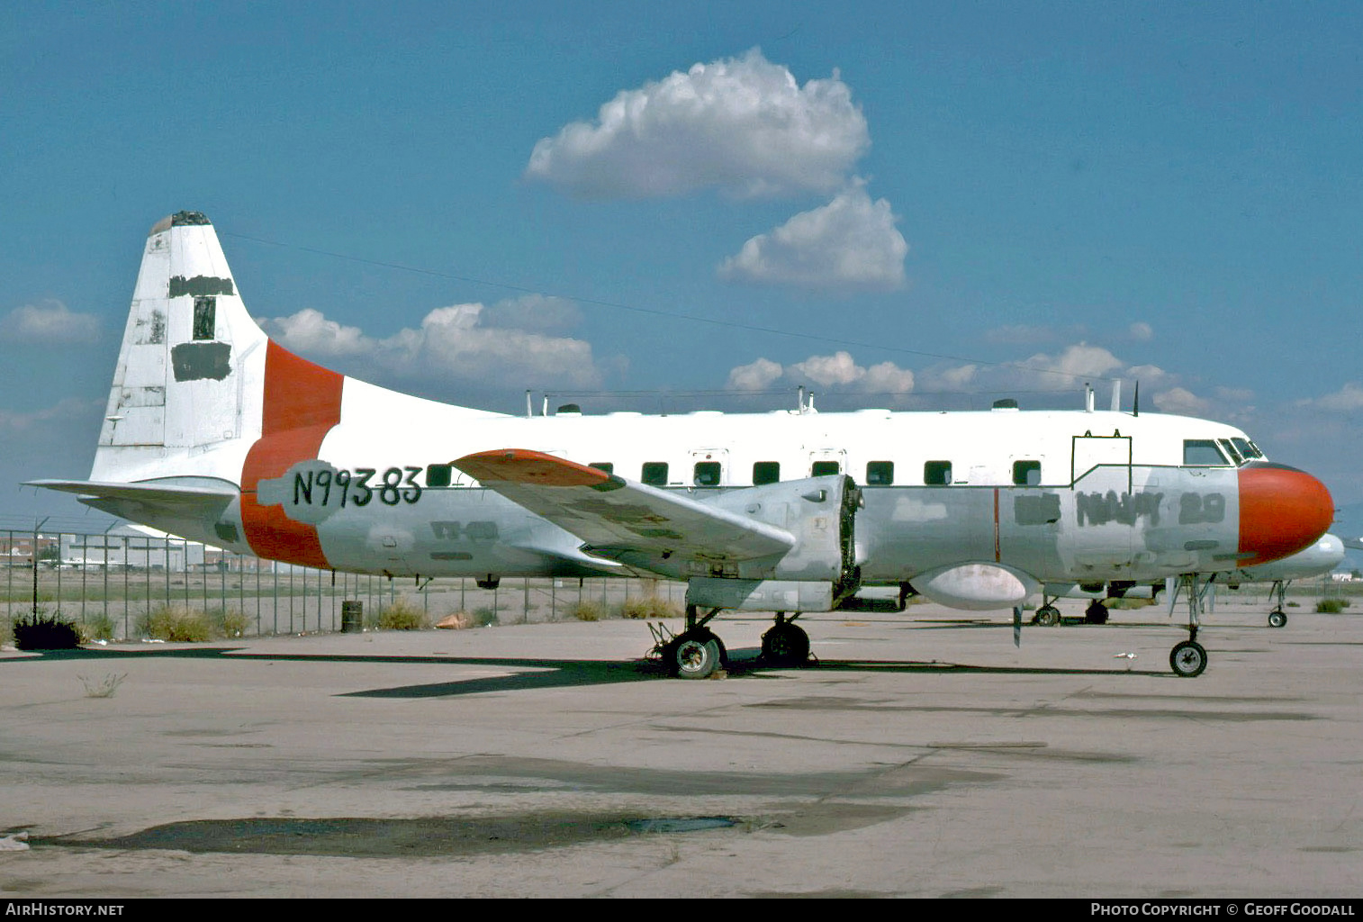
[[[592,554],[733,562],[781,555],[796,543],[782,528],[542,451],[480,451],[454,466],[582,539]]]

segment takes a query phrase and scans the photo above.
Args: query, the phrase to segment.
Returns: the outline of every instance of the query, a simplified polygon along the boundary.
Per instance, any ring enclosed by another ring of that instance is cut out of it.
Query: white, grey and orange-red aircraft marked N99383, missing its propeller
[[[519,417],[394,393],[305,361],[252,322],[209,220],[151,229],[87,481],[38,486],[243,554],[414,577],[687,582],[676,675],[724,659],[707,622],[874,595],[1013,608],[1047,585],[1179,577],[1197,675],[1206,582],[1329,526],[1313,476],[1238,428],[1094,412]]]

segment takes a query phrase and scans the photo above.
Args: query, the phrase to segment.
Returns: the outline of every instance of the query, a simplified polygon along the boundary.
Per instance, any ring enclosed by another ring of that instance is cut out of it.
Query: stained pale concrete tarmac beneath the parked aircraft
[[[5,652],[0,896],[1356,897],[1363,618],[1266,610],[1195,679],[1164,608]]]

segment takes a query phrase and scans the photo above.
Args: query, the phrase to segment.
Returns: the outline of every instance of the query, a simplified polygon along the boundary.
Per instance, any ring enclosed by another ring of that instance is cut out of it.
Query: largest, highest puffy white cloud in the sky
[[[534,146],[526,177],[585,198],[838,187],[871,139],[837,71],[800,86],[758,49],[622,90]]]

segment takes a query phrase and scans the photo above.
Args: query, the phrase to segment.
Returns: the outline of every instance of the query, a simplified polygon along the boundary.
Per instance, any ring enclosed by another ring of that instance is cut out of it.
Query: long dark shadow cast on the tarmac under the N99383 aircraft
[[[395,666],[474,666],[518,670],[502,675],[480,675],[451,682],[425,682],[420,685],[399,685],[391,687],[342,692],[339,697],[356,698],[442,698],[485,692],[518,692],[529,689],[557,689],[592,685],[619,685],[626,682],[649,682],[667,678],[667,670],[657,660],[562,660],[527,657],[473,657],[473,656],[354,656],[354,655],[301,655],[301,653],[247,653],[234,646],[174,648],[159,651],[110,651],[75,649],[46,651],[33,659],[12,659],[8,664],[74,660],[99,663],[119,659],[230,659],[270,660],[294,663],[390,663]],[[519,671],[525,670],[525,671]],[[1104,675],[1104,676],[1159,676],[1178,678],[1168,671],[1156,670],[1094,670],[1063,667],[1020,667],[1020,666],[976,666],[969,663],[949,663],[938,660],[867,660],[867,659],[819,659],[806,667],[816,672],[879,672],[879,674],[961,674],[961,675]],[[758,649],[729,651],[729,661],[724,670],[725,679],[773,679],[797,675],[801,670],[774,667],[763,663]],[[721,678],[721,676],[717,676]],[[713,679],[711,679],[713,681]]]

